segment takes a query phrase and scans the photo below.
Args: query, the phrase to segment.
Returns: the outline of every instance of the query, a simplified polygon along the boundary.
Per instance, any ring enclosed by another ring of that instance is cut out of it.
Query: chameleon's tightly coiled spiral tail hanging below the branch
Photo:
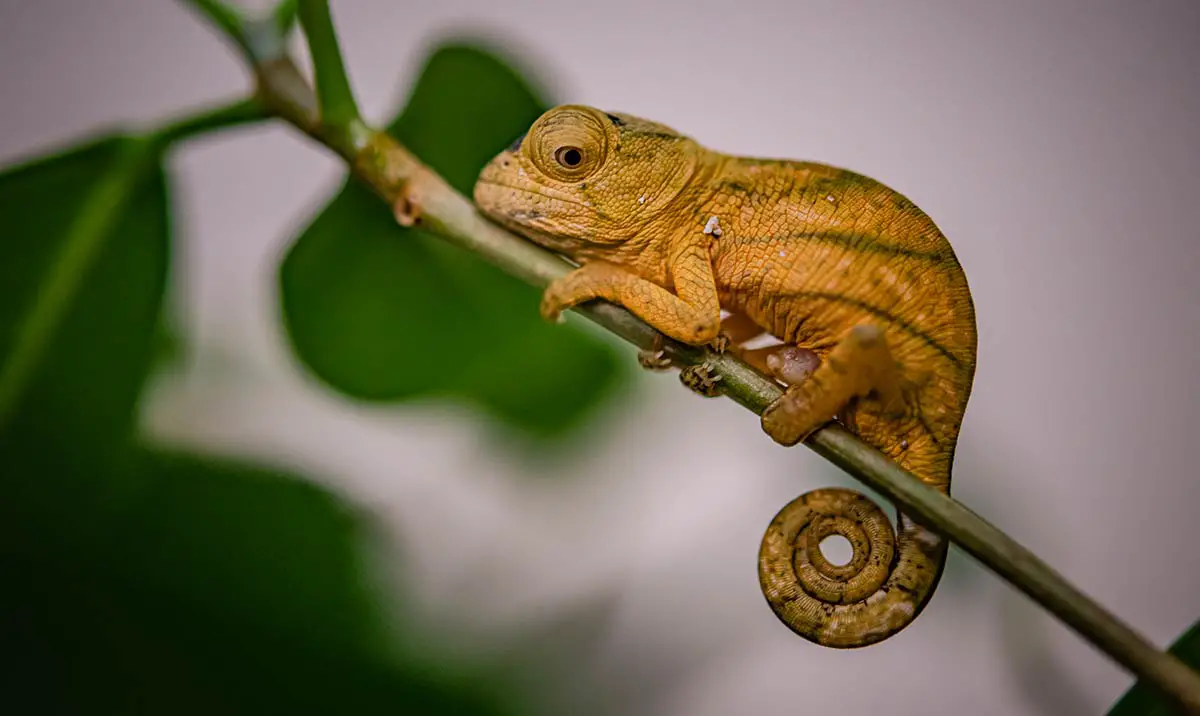
[[[788,503],[758,550],[758,582],[775,615],[802,637],[840,649],[906,627],[937,586],[947,546],[902,513],[899,525],[898,538],[887,515],[852,489],[816,489]],[[830,535],[850,541],[845,565],[821,552]]]

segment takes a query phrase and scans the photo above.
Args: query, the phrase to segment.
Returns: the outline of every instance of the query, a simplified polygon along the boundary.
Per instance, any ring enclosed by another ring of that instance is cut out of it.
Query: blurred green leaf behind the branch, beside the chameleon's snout
[[[480,169],[546,103],[500,59],[433,53],[389,131],[469,195]],[[540,291],[419,230],[355,181],[281,266],[300,360],[360,399],[460,397],[535,435],[578,426],[626,361],[604,339],[538,314]]]

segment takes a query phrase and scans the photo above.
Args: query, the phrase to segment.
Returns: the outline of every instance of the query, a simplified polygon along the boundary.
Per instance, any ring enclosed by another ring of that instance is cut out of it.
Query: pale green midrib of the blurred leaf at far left
[[[143,172],[151,166],[154,144],[145,137],[121,139],[113,167],[83,198],[46,281],[38,285],[29,314],[17,329],[8,361],[0,366],[0,431],[7,427],[13,410],[20,404],[88,269],[137,189]]]

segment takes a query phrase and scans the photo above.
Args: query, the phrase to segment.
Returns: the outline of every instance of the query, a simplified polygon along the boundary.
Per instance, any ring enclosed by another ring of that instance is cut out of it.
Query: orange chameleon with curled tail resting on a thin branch
[[[838,421],[949,493],[976,371],[974,305],[946,236],[899,192],[564,104],[482,168],[473,198],[487,219],[576,266],[542,293],[546,319],[593,300],[623,306],[776,380],[784,392],[761,416],[775,443]],[[746,345],[756,339],[770,344]],[[848,562],[822,553],[830,535],[850,541]],[[758,582],[800,637],[859,648],[918,616],[947,552],[944,537],[899,511],[893,527],[857,491],[815,489],[770,522]]]

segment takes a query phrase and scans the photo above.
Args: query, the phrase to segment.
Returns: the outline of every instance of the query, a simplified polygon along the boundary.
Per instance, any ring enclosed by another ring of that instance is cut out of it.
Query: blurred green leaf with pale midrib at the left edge
[[[128,432],[167,276],[155,158],[114,137],[0,174],[0,380],[19,379],[4,393],[16,429]]]

